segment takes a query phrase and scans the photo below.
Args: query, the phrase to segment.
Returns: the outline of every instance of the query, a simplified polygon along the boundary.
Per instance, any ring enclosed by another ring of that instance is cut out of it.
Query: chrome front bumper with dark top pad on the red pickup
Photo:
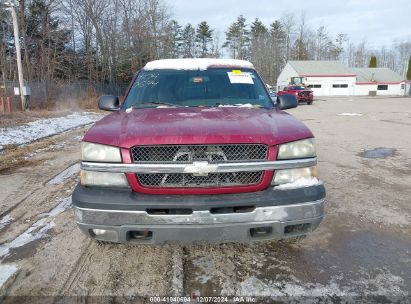
[[[221,195],[147,195],[130,190],[74,191],[80,229],[97,240],[249,242],[307,234],[324,216],[322,184],[287,190]]]

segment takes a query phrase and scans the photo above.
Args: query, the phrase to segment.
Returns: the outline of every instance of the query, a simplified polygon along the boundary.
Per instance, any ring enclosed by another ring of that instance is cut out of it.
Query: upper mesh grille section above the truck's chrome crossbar
[[[135,146],[131,158],[134,163],[219,163],[265,160],[267,152],[267,146],[260,144]]]

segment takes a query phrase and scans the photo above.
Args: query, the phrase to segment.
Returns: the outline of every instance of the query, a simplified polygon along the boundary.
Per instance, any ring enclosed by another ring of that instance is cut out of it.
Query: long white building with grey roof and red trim
[[[300,83],[314,96],[406,94],[406,82],[390,69],[350,69],[339,61],[289,61],[278,76],[277,90]]]

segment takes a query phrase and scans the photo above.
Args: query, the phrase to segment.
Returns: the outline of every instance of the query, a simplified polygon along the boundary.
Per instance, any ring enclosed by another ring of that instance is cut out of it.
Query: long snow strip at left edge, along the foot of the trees
[[[73,113],[63,117],[40,119],[27,124],[0,128],[0,150],[4,145],[26,144],[44,137],[91,124],[103,116],[97,113]]]

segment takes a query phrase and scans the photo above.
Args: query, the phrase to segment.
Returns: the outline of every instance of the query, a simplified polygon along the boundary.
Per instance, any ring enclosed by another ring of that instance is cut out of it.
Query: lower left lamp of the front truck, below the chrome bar
[[[83,186],[99,186],[99,187],[128,187],[128,180],[124,173],[109,173],[109,172],[80,172],[80,183]]]

